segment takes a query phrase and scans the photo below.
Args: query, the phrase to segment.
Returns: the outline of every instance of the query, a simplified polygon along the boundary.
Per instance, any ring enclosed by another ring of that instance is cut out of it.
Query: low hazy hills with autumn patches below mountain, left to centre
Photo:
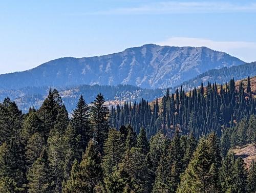
[[[94,101],[100,92],[104,95],[107,105],[123,104],[124,101],[139,101],[141,98],[152,101],[165,93],[161,89],[141,89],[132,85],[79,85],[77,87],[54,87],[66,105],[69,113],[75,109],[77,101],[82,94],[87,103]],[[31,106],[38,109],[48,95],[50,87],[27,87],[18,90],[0,90],[0,101],[9,97],[14,100],[18,108],[24,113]]]

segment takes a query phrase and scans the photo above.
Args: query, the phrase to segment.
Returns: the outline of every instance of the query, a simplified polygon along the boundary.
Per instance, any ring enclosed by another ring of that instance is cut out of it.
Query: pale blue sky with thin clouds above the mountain
[[[256,0],[0,1],[0,74],[144,44],[206,46],[256,61]]]

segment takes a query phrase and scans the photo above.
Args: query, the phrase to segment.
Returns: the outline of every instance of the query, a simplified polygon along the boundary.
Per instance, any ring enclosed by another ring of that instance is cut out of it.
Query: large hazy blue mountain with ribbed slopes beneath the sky
[[[59,58],[34,69],[0,75],[0,88],[118,85],[156,89],[179,85],[210,69],[242,65],[229,54],[206,47],[144,45],[98,57]]]

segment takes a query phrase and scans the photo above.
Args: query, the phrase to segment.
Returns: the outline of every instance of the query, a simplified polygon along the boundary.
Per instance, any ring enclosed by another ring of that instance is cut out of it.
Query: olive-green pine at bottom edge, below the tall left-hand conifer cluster
[[[50,193],[51,192],[51,174],[48,163],[46,149],[44,149],[40,157],[33,163],[29,169],[28,192],[29,193]]]

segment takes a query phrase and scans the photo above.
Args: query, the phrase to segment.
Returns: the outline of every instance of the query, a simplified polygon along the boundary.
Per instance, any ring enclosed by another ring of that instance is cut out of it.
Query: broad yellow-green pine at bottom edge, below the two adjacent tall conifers
[[[79,166],[72,167],[70,179],[63,184],[63,192],[95,192],[96,186],[102,181],[103,171],[100,163],[99,147],[97,141],[92,139]]]

